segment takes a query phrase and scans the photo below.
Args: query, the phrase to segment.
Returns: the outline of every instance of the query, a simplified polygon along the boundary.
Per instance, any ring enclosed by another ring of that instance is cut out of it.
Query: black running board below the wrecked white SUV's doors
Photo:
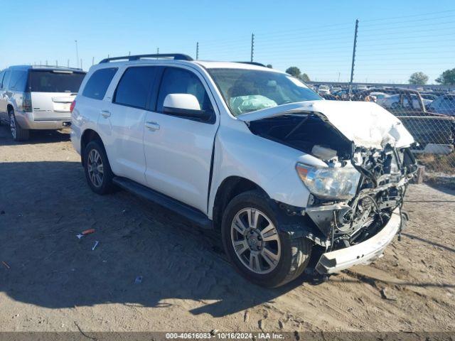
[[[112,179],[112,182],[120,188],[134,193],[139,197],[143,197],[144,199],[154,202],[157,205],[173,210],[203,229],[213,229],[212,221],[208,219],[203,212],[196,210],[196,208],[188,206],[183,202],[156,192],[156,190],[152,190],[151,188],[145,187],[144,185],[127,178],[116,176]]]

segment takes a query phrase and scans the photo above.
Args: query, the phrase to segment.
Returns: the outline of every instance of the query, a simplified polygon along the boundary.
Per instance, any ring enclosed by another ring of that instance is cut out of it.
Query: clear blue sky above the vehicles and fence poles
[[[6,0],[0,0],[6,2]],[[45,63],[87,69],[107,55],[182,52],[200,59],[291,65],[311,80],[350,76],[358,18],[357,82],[434,82],[455,67],[455,3],[381,1],[20,1],[1,6],[0,69]],[[5,34],[6,33],[6,34]]]

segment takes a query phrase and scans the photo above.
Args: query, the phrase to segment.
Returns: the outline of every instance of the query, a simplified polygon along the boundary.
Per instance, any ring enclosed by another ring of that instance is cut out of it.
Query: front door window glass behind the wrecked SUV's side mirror
[[[164,99],[168,94],[193,94],[198,99],[200,109],[213,111],[205,87],[191,71],[178,67],[168,67],[164,70],[156,108],[158,112],[163,112]]]

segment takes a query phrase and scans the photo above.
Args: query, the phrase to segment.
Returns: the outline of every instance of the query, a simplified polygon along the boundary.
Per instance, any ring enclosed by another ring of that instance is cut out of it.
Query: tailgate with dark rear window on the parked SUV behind
[[[33,119],[70,119],[70,105],[79,91],[85,72],[32,69],[28,76]]]

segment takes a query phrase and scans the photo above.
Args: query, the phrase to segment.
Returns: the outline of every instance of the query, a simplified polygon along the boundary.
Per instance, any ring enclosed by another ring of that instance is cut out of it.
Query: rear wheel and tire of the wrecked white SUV
[[[92,156],[90,156],[90,153],[92,153]],[[94,155],[100,156],[102,168],[100,168],[99,166],[92,166],[94,161],[93,158]],[[90,143],[87,144],[83,151],[83,160],[85,178],[87,179],[87,183],[92,189],[92,191],[100,195],[112,193],[115,188],[114,184],[112,183],[112,178],[114,178],[114,174],[111,171],[105,147],[103,146],[102,142],[98,140],[90,141]],[[92,169],[93,171],[97,172],[97,174],[95,174],[94,176],[93,173],[90,173],[89,169]],[[100,178],[102,179],[101,181],[99,181]]]

